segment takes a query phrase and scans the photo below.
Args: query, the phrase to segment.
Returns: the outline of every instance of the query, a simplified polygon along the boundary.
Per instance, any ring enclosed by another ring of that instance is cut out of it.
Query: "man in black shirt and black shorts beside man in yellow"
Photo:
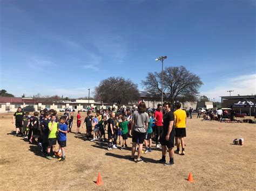
[[[173,128],[174,123],[174,116],[171,111],[171,104],[166,103],[164,105],[165,115],[164,115],[164,127],[163,127],[163,135],[160,137],[160,142],[162,145],[162,158],[158,160],[160,163],[165,163],[165,155],[166,150],[168,148],[170,161],[166,162],[165,165],[173,165],[173,157],[174,157],[174,136],[175,136],[175,129]]]

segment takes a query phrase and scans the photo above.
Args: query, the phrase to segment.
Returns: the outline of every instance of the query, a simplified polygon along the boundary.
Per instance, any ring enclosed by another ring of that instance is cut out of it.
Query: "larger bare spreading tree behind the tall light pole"
[[[145,89],[150,93],[161,93],[161,72],[148,73],[142,81]],[[167,67],[164,70],[163,96],[164,100],[196,101],[198,89],[203,84],[200,77],[189,72],[184,66]]]

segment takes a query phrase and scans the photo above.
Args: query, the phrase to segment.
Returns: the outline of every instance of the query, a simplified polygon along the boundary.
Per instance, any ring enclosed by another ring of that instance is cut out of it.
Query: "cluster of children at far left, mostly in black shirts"
[[[71,116],[72,117],[72,116]],[[49,160],[58,158],[59,161],[65,160],[66,133],[68,133],[68,124],[72,119],[66,114],[57,118],[57,111],[43,110],[35,111],[33,116],[29,116],[29,112],[23,112],[22,108],[18,108],[14,114],[12,123],[16,125],[16,136],[21,135],[28,139],[31,144],[36,143],[41,147],[43,155]],[[58,143],[58,152],[55,152]]]

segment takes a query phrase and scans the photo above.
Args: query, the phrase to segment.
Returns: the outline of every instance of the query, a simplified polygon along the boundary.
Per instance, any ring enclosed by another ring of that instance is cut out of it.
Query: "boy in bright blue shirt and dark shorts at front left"
[[[58,144],[62,150],[62,157],[58,159],[59,161],[65,160],[64,147],[66,147],[66,133],[68,133],[68,125],[66,125],[65,121],[66,116],[60,117],[58,126]]]

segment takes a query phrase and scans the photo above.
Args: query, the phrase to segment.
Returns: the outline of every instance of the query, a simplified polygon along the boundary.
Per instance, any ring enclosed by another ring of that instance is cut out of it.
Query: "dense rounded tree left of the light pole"
[[[95,98],[102,102],[127,104],[137,101],[138,97],[137,84],[123,77],[109,77],[95,88]]]

